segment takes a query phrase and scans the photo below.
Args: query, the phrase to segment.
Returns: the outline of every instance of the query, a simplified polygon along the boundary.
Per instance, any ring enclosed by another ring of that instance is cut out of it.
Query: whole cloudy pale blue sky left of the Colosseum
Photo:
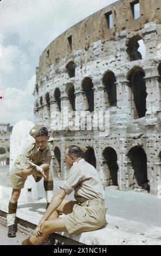
[[[0,122],[34,120],[35,68],[40,54],[75,23],[115,0],[0,2]]]

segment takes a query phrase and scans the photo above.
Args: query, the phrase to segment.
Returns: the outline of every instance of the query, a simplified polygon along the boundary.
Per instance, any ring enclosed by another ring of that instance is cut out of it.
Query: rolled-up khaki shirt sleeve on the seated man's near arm
[[[81,182],[82,175],[81,170],[78,166],[73,166],[70,171],[67,180],[65,180],[61,185],[60,188],[65,190],[66,194],[72,193],[74,188]]]

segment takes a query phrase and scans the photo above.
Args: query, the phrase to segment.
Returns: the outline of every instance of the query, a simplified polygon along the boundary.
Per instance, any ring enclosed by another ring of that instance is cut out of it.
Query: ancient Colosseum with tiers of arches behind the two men
[[[115,2],[69,28],[41,54],[34,89],[35,123],[46,125],[54,137],[55,178],[67,176],[66,145],[82,144],[88,147],[88,160],[104,187],[158,193],[160,6],[160,0]],[[91,130],[56,126],[65,108],[86,111],[91,117],[108,111],[109,134],[100,136],[93,126]]]

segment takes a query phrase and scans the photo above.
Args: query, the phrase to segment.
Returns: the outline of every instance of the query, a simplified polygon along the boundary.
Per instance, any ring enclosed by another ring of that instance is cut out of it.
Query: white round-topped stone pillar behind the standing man
[[[34,126],[35,124],[31,121],[19,121],[14,125],[10,136],[10,170],[17,155],[21,153],[24,144],[35,142],[35,139],[29,135],[30,129]],[[38,184],[35,182],[33,176],[29,175],[25,181],[24,188],[21,190],[21,196],[18,202],[27,203],[35,200],[38,200]]]

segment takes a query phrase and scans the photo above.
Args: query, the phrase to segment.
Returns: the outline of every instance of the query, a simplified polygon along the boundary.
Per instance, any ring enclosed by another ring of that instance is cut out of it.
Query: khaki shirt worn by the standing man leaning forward
[[[44,159],[47,156],[52,156],[53,153],[53,140],[48,141],[47,147],[42,151],[38,151],[38,147],[36,142],[34,143],[26,143],[23,147],[22,153],[16,157],[16,160],[11,168],[11,172],[16,169],[28,169],[30,168],[30,163],[27,159],[35,164],[42,164]]]

